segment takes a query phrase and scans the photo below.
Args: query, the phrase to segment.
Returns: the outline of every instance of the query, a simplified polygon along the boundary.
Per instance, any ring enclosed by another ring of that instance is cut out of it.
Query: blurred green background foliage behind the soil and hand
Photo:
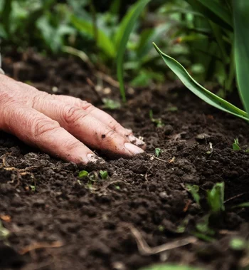
[[[231,38],[193,8],[198,0],[153,0],[139,16],[124,56],[124,78],[132,86],[173,79],[152,41],[182,63],[200,82],[230,90]],[[213,0],[220,1],[220,0]],[[229,1],[223,0],[224,4]],[[192,2],[192,3],[191,3]],[[115,77],[116,59],[132,0],[0,0],[1,53],[35,48],[58,56],[70,53]],[[223,50],[221,44],[223,43]],[[166,74],[165,74],[166,72]],[[233,78],[233,77],[232,77]],[[233,80],[232,80],[233,81]],[[225,95],[221,91],[220,95]]]

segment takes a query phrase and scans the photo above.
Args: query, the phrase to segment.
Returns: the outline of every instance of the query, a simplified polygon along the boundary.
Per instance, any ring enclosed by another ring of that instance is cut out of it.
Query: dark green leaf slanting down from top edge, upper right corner
[[[233,31],[232,16],[221,4],[214,0],[186,0],[195,11],[203,14],[206,19],[213,21],[219,26]],[[229,19],[229,15],[231,19]]]

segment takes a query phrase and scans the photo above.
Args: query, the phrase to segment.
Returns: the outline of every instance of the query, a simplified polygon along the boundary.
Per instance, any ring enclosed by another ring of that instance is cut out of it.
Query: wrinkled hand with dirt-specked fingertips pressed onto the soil
[[[75,163],[98,160],[85,145],[121,157],[132,157],[145,148],[131,130],[90,103],[50,95],[1,74],[0,130]]]

